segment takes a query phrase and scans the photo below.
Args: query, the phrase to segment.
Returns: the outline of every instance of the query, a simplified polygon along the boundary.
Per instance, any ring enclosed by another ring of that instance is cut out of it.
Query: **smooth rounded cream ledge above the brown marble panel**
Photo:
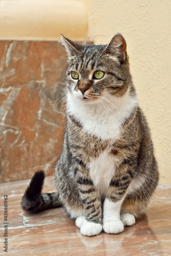
[[[87,39],[87,13],[73,0],[1,0],[0,39]]]

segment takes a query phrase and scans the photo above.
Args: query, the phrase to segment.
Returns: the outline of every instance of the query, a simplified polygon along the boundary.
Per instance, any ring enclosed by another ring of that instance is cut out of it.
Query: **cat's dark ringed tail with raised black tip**
[[[44,183],[44,171],[36,172],[22,197],[21,206],[28,212],[42,211],[61,207],[57,193],[41,193]]]

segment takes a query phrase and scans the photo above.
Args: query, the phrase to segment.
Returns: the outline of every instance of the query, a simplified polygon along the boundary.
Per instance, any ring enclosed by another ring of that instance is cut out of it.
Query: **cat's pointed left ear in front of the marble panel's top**
[[[78,51],[81,50],[81,45],[73,42],[72,40],[64,37],[63,35],[61,35],[61,39],[69,55],[74,56],[78,53]]]

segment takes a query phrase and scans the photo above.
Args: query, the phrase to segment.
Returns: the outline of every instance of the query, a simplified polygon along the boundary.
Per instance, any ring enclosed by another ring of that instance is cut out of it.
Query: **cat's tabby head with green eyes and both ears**
[[[108,45],[80,45],[61,38],[68,54],[66,83],[73,98],[95,103],[127,92],[131,76],[127,44],[121,34],[113,36]]]

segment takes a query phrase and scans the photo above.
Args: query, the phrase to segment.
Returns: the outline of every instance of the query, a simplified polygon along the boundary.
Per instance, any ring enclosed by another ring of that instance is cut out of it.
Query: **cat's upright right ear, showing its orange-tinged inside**
[[[120,61],[127,57],[127,43],[121,34],[116,34],[106,47],[106,52],[111,55],[116,55]]]

